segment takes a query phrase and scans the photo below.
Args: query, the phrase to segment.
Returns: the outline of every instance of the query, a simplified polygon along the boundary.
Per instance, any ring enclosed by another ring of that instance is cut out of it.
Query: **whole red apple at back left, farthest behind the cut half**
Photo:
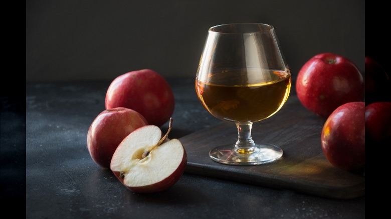
[[[174,111],[174,95],[168,82],[151,69],[116,77],[106,92],[106,109],[126,107],[141,113],[149,124],[160,126]]]

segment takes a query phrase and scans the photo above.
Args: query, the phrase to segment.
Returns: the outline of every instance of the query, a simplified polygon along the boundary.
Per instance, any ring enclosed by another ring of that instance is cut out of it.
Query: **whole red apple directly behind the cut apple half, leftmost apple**
[[[110,168],[111,157],[119,143],[135,129],[148,122],[133,109],[115,107],[100,112],[87,132],[91,158],[103,168]]]

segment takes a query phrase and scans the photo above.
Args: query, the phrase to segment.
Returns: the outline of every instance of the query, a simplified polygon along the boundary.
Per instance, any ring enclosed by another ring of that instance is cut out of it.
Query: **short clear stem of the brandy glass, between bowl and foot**
[[[236,123],[238,128],[238,141],[236,141],[235,149],[238,153],[252,153],[255,151],[255,143],[251,137],[251,128],[253,122]]]

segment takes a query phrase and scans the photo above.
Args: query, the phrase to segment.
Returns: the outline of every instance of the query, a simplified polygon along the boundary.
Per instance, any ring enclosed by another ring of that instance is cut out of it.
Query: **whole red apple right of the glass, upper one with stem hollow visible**
[[[356,65],[346,57],[320,53],[300,69],[296,92],[307,109],[327,118],[344,103],[364,100],[364,80]]]

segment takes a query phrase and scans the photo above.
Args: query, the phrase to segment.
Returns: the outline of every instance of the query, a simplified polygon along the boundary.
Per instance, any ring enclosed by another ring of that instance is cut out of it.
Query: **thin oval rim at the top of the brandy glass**
[[[249,28],[248,31],[224,31],[223,29],[231,27],[238,27],[241,25],[242,28],[247,26]],[[222,28],[222,29],[219,29]],[[257,28],[257,29],[256,29]],[[245,33],[254,33],[254,32],[265,32],[265,31],[273,31],[274,26],[266,23],[257,23],[257,22],[239,22],[239,23],[225,23],[219,24],[215,26],[211,26],[208,31],[214,32],[218,34],[245,34]]]

